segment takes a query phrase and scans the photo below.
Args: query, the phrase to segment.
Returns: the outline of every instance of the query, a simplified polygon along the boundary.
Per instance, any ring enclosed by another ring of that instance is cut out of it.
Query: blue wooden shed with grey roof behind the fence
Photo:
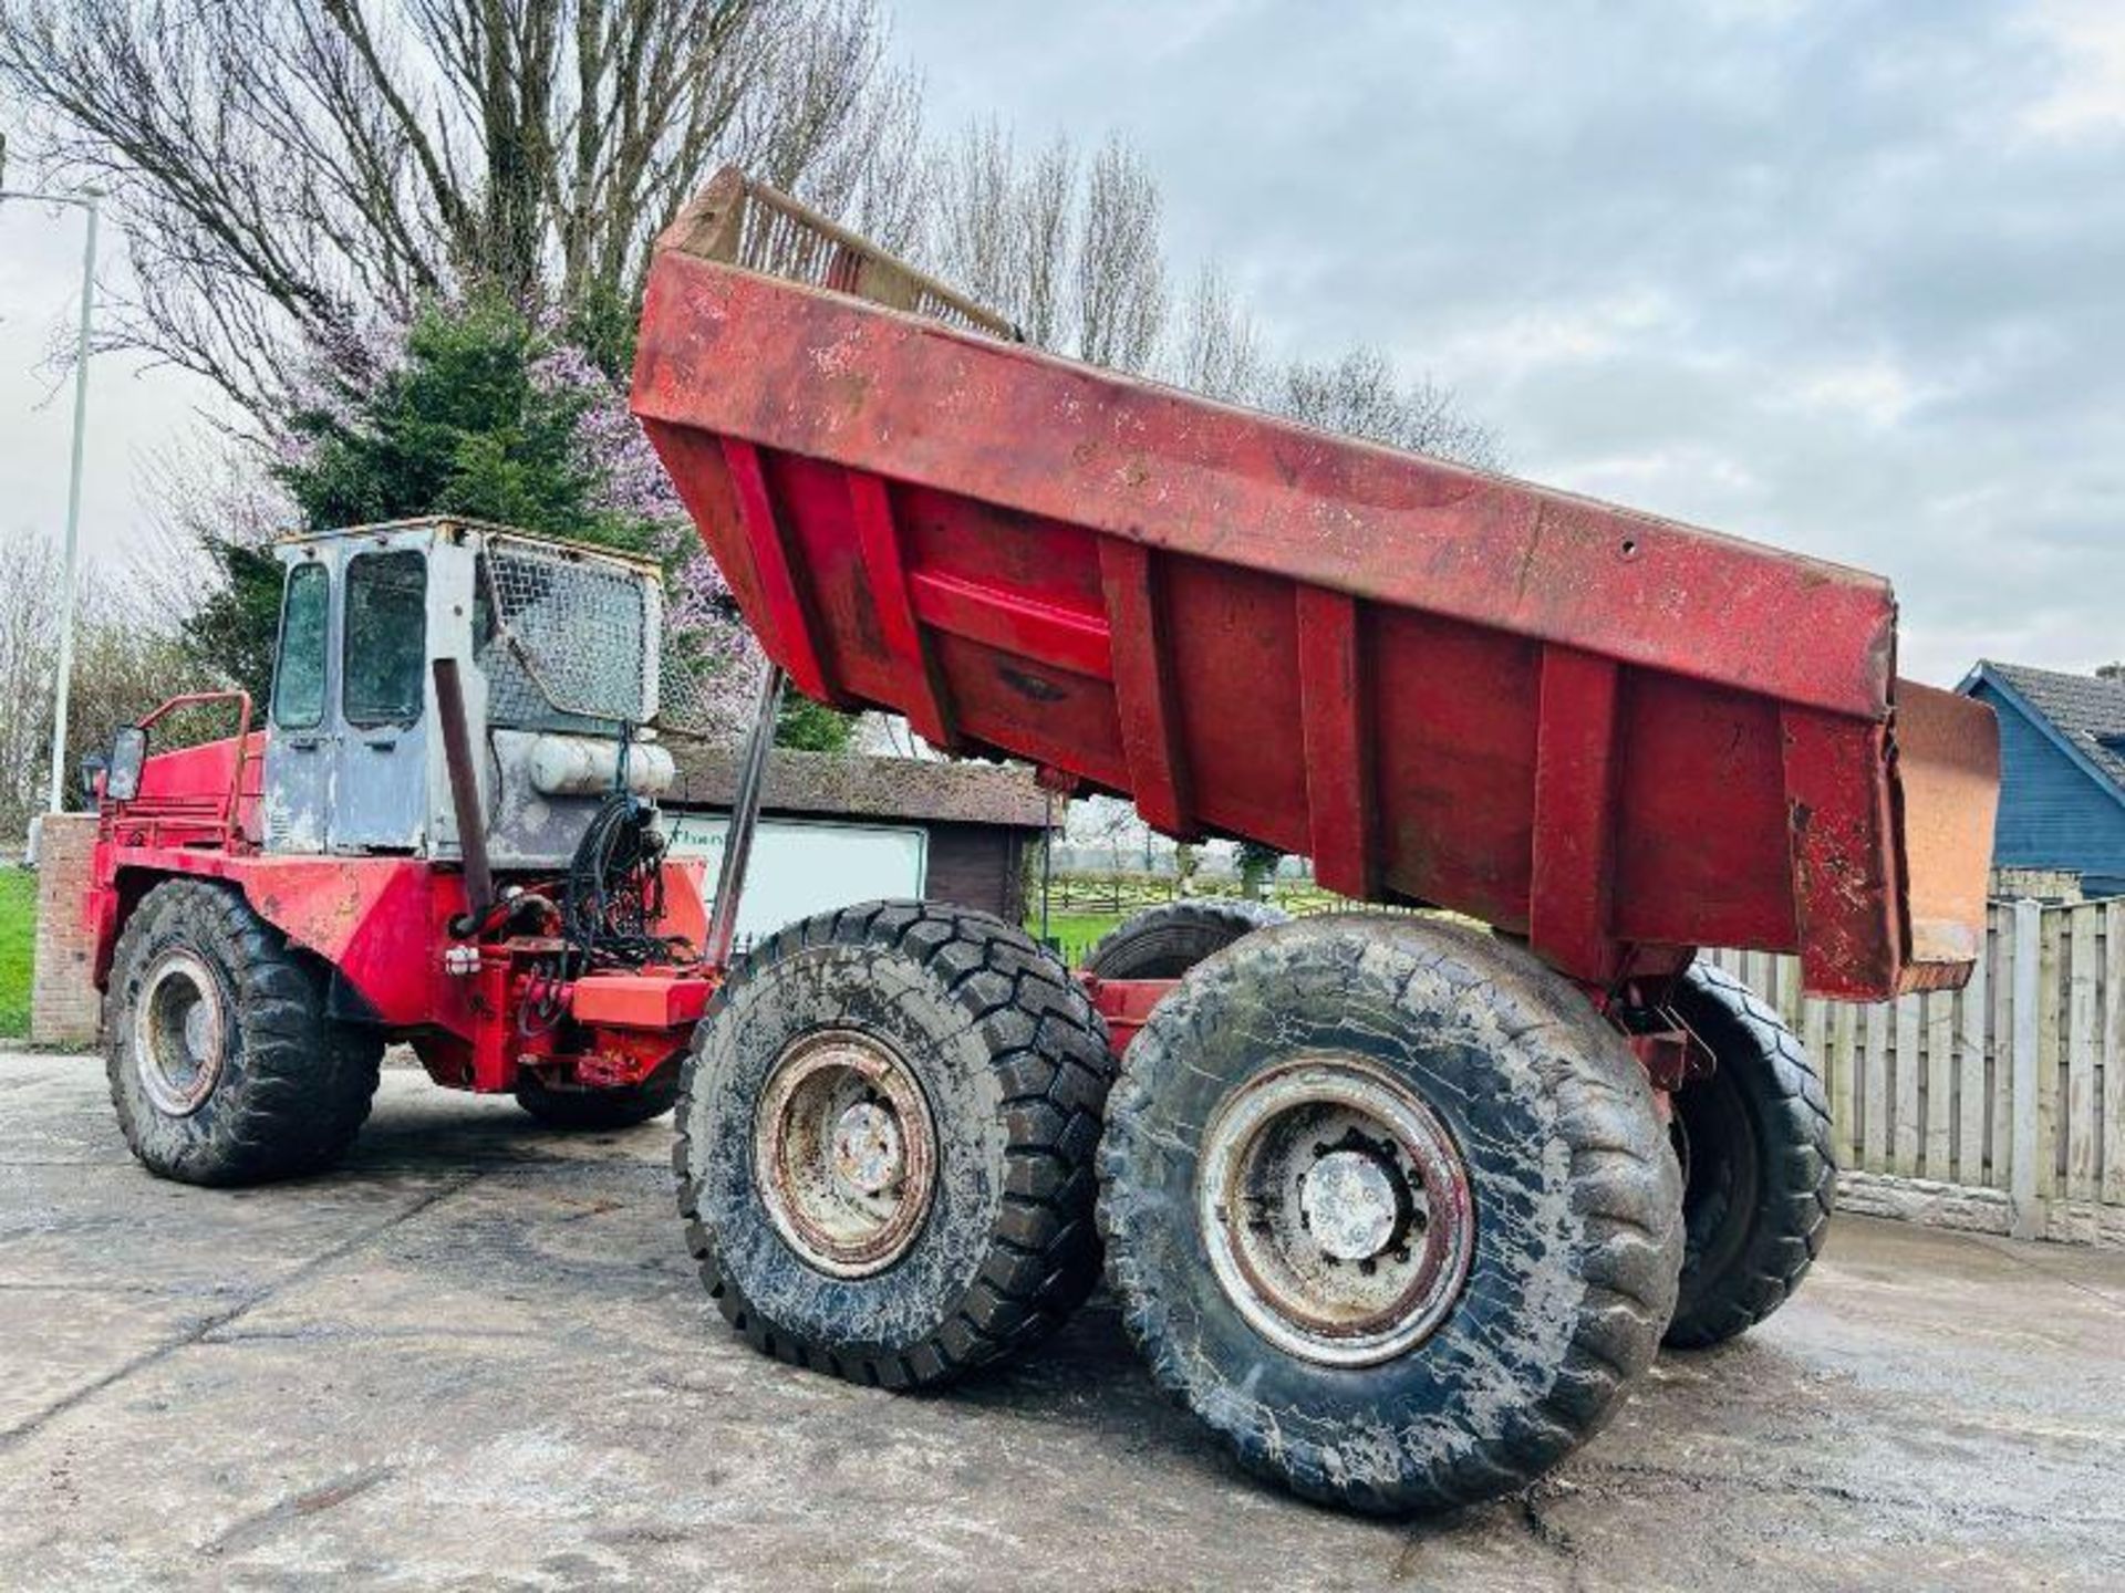
[[[1993,869],[2125,892],[2125,680],[1983,658],[1957,690],[2000,716]]]

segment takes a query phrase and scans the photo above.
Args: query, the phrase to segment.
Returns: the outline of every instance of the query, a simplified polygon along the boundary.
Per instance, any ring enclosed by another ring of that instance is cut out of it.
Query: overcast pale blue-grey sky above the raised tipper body
[[[1878,569],[1904,669],[2125,654],[2125,4],[895,0],[941,125],[1120,127],[1179,270],[1511,469]],[[0,529],[57,525],[79,221],[0,210]],[[91,546],[198,393],[98,361]]]

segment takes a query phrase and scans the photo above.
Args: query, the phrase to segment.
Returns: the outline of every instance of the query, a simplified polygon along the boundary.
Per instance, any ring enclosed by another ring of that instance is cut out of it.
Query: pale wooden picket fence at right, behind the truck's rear
[[[2125,901],[1993,903],[1959,992],[1802,998],[1800,964],[1719,952],[1800,1034],[1855,1209],[2125,1245]]]

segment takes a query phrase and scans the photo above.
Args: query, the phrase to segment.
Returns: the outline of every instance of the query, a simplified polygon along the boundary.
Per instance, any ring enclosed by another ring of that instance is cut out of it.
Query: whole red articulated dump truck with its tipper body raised
[[[654,571],[289,544],[266,731],[104,775],[151,1168],[327,1162],[385,1041],[546,1121],[676,1107],[761,1351],[944,1383],[1105,1264],[1247,1468],[1381,1512],[1526,1485],[1800,1285],[1823,1090],[1696,949],[1844,1000],[1980,954],[1998,731],[1896,678],[1887,582],[1058,359],[737,172],[659,242],[633,408],[771,661],[718,881],[661,847]],[[378,612],[397,663],[327,656]],[[890,901],[733,956],[784,680],[1352,909],[1179,901],[1067,969]]]

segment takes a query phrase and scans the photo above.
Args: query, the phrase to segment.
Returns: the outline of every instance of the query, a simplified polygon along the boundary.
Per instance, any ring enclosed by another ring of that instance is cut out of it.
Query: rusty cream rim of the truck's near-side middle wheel
[[[776,1232],[820,1272],[884,1272],[914,1245],[937,1183],[937,1128],[914,1073],[854,1030],[790,1045],[767,1075],[754,1181]]]

